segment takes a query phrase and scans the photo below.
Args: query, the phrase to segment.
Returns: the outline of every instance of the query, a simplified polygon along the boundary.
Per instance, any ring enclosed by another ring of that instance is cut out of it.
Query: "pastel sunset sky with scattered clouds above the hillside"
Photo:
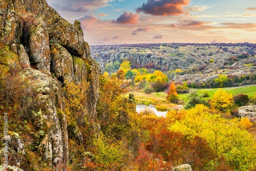
[[[89,45],[256,43],[256,0],[48,0]]]

